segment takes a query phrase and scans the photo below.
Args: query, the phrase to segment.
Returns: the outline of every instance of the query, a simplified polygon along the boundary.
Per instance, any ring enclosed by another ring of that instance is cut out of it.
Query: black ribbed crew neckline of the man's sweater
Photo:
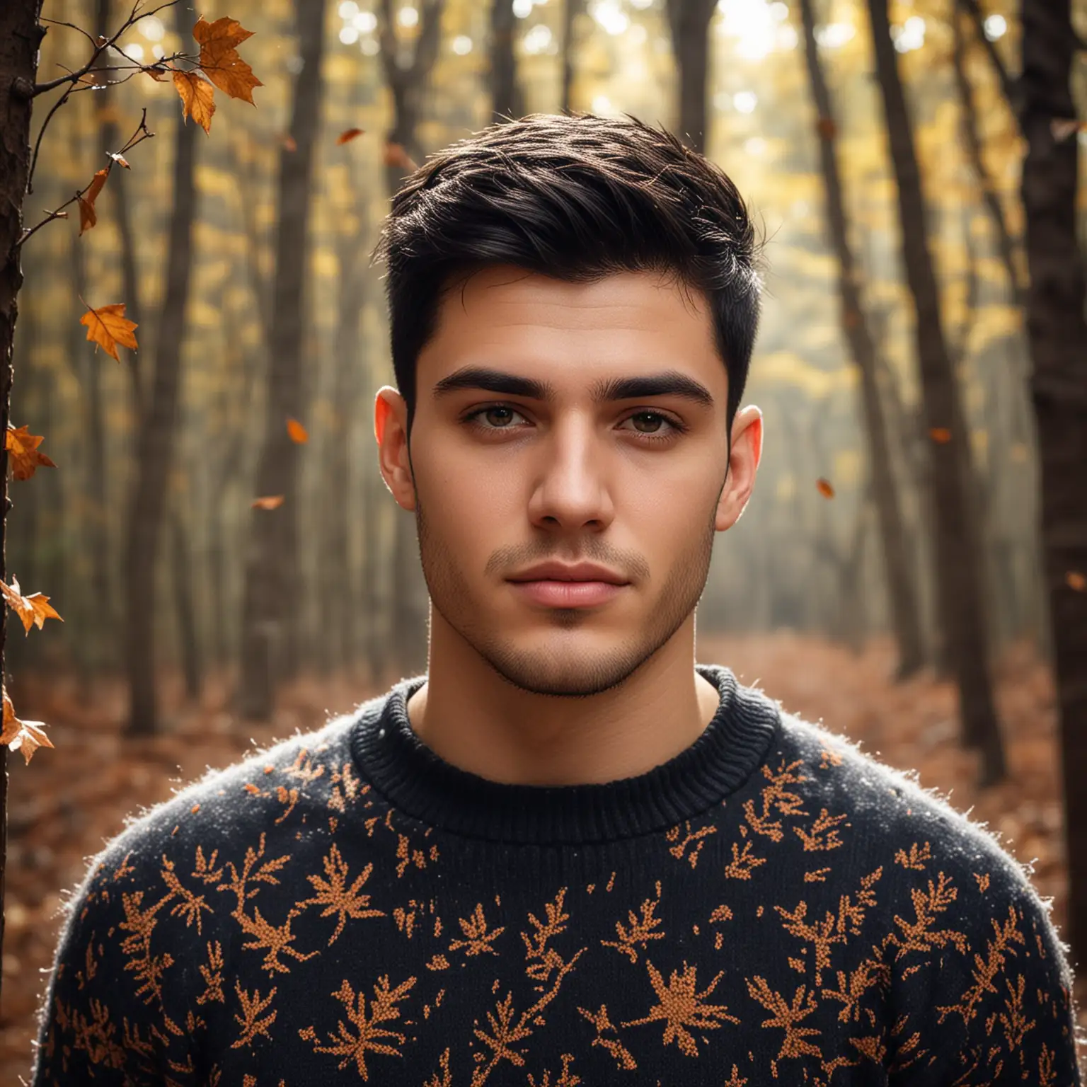
[[[403,679],[363,713],[351,753],[393,808],[453,834],[523,845],[632,838],[675,826],[736,791],[777,730],[776,703],[722,665],[697,664],[721,701],[699,737],[667,762],[607,784],[510,785],[460,770],[412,730],[408,700],[426,676]]]

